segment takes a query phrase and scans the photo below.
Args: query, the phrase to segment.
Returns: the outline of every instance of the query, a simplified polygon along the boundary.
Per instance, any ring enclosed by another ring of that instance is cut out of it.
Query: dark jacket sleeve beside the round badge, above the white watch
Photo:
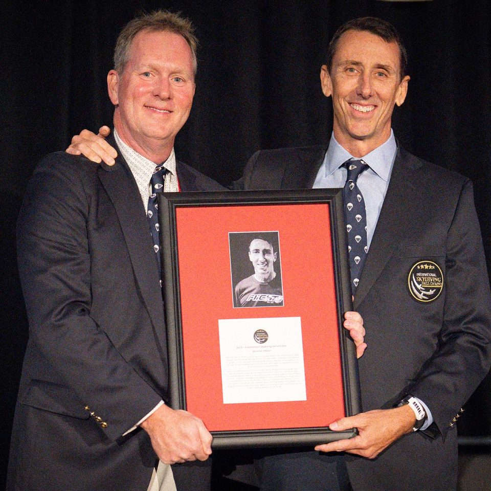
[[[428,405],[443,437],[491,364],[491,296],[470,181],[462,188],[446,245],[438,348],[408,387]]]

